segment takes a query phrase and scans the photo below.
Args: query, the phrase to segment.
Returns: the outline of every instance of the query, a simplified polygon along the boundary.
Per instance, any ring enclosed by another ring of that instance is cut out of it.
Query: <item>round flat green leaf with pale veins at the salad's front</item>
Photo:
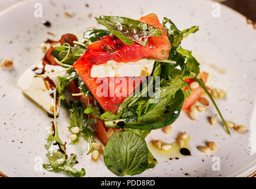
[[[148,167],[148,146],[134,132],[116,132],[105,146],[104,162],[117,176],[140,174]]]

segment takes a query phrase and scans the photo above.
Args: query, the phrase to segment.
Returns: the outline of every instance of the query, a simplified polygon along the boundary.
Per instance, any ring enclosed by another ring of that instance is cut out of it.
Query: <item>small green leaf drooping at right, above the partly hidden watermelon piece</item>
[[[196,60],[195,57],[193,57],[193,55],[191,54],[191,51],[185,50],[184,48],[177,48],[177,51],[182,54],[183,56],[185,56],[186,58],[186,65],[189,71],[196,73],[196,75],[198,75],[200,73],[200,64],[199,62]]]

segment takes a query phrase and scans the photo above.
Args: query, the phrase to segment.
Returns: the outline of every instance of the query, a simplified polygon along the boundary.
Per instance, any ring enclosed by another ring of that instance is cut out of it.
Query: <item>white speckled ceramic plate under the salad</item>
[[[43,17],[34,17],[34,5],[43,5]],[[87,7],[85,4],[88,4]],[[256,30],[248,25],[246,18],[232,9],[220,5],[220,17],[216,15],[213,1],[24,1],[0,14],[1,48],[0,58],[14,61],[14,69],[0,69],[0,170],[8,176],[58,177],[56,174],[38,169],[38,164],[47,162],[46,126],[51,119],[46,112],[25,97],[17,81],[21,74],[43,56],[39,45],[47,38],[58,39],[67,32],[82,37],[82,32],[91,27],[100,27],[94,16],[122,15],[139,18],[155,12],[159,19],[168,17],[181,30],[199,25],[200,31],[185,38],[183,47],[193,50],[201,63],[201,70],[210,73],[208,86],[224,89],[228,96],[217,100],[223,116],[249,128],[247,133],[232,131],[231,136],[220,123],[210,126],[207,116],[216,114],[213,106],[205,113],[197,113],[191,121],[183,112],[172,125],[172,133],[152,131],[147,142],[162,139],[173,142],[178,132],[186,131],[191,136],[191,157],[169,160],[155,154],[158,164],[152,170],[138,175],[141,177],[226,177],[246,176],[256,169]],[[65,12],[74,14],[72,18]],[[45,27],[44,19],[52,23]],[[56,36],[47,34],[52,32]],[[213,69],[225,71],[220,74]],[[68,142],[68,115],[61,110],[58,119],[60,138]],[[217,151],[204,155],[197,146],[215,141]],[[78,155],[79,164],[85,168],[87,177],[114,176],[100,161],[92,162],[87,152],[87,143],[77,146],[67,144],[68,154]],[[220,170],[212,169],[213,157],[220,158]],[[187,174],[186,174],[187,173]]]

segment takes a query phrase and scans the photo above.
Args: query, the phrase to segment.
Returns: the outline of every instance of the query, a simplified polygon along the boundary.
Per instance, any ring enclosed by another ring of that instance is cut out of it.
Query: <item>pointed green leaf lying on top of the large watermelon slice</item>
[[[132,45],[133,41],[136,41],[145,46],[148,37],[162,35],[161,30],[136,19],[116,16],[100,16],[95,19],[127,45]]]

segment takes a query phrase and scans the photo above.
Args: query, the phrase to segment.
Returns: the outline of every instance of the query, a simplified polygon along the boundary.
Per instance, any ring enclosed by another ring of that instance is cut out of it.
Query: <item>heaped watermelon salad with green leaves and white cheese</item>
[[[41,66],[37,63],[30,69],[34,80],[46,85],[44,98],[53,99],[53,105],[43,104],[38,99],[42,92],[30,93],[20,80],[24,92],[54,118],[45,145],[49,162],[43,167],[74,177],[85,175],[84,168],[73,168],[76,155],[68,157],[59,138],[57,119],[62,118],[57,116],[62,106],[70,113],[71,144],[83,138],[92,160],[103,154],[108,170],[118,176],[140,174],[157,164],[146,136],[175,122],[181,110],[190,110],[203,92],[222,118],[204,84],[208,74],[200,71],[191,51],[181,47],[184,38],[199,27],[181,31],[168,18],[159,21],[156,14],[137,20],[104,15],[95,19],[106,29],[85,31],[82,41],[73,34],[62,35],[56,41],[60,45],[47,50]],[[104,151],[95,137],[105,145]]]

